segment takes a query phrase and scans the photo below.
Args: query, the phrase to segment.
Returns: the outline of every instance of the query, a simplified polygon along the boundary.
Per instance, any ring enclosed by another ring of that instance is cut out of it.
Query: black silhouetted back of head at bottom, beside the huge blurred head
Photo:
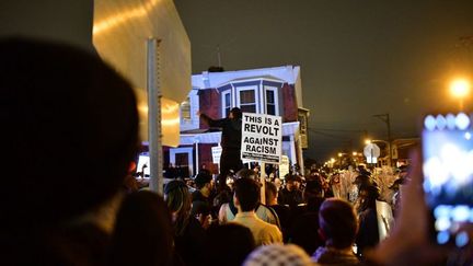
[[[172,254],[171,217],[162,197],[147,190],[129,194],[116,217],[108,264],[172,265]]]

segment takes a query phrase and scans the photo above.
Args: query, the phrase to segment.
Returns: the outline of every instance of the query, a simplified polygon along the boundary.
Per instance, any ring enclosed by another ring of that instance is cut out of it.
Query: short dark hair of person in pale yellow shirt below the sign
[[[259,203],[259,185],[252,178],[240,178],[234,183],[234,194],[242,211],[256,209]]]

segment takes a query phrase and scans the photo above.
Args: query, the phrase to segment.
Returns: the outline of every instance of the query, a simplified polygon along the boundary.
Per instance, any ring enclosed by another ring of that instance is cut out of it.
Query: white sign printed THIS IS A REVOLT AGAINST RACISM
[[[243,113],[241,159],[279,163],[282,141],[280,116]]]

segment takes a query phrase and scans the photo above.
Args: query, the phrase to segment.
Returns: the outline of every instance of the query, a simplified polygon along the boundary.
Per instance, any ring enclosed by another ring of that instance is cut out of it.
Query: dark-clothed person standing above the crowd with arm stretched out
[[[241,138],[242,138],[242,112],[240,108],[234,107],[230,111],[228,117],[222,119],[212,119],[206,114],[197,113],[200,118],[210,127],[222,129],[221,147],[222,153],[220,157],[220,175],[219,187],[226,186],[227,175],[230,170],[236,173],[243,167],[243,162],[240,159],[241,152]]]

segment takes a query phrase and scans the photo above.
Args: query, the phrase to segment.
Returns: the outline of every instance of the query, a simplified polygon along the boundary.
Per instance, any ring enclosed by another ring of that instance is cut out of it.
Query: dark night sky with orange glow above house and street
[[[473,0],[175,0],[193,73],[301,66],[308,157],[361,150],[364,131],[417,137],[423,114],[454,111],[449,80],[473,65]],[[470,103],[471,102],[471,103]],[[466,102],[473,106],[473,99]]]

